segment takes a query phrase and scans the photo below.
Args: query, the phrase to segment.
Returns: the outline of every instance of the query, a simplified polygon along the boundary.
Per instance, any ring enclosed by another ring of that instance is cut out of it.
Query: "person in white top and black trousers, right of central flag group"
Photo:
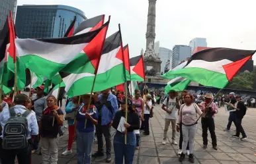
[[[152,97],[151,95],[146,96],[146,101],[144,105],[144,121],[142,121],[141,129],[144,129],[144,135],[149,135],[149,118],[150,118],[150,110],[152,108]]]

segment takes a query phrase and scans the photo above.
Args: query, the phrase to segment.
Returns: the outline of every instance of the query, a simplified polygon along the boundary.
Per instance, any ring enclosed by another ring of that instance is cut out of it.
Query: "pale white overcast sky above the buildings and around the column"
[[[111,15],[108,35],[121,24],[130,55],[146,47],[147,0],[19,0],[18,5],[69,5],[87,18]],[[192,38],[207,38],[208,47],[256,49],[255,2],[252,0],[157,0],[156,39],[161,47],[188,45]],[[256,59],[256,57],[254,57]]]

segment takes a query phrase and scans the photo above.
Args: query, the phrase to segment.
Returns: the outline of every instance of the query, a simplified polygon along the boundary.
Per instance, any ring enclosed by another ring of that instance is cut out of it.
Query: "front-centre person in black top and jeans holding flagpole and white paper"
[[[115,164],[122,164],[123,161],[125,164],[132,164],[134,159],[134,152],[136,148],[136,136],[134,134],[134,130],[138,130],[140,128],[140,117],[132,108],[132,99],[127,99],[128,105],[128,117],[127,123],[124,123],[124,131],[120,132],[118,130],[118,124],[120,124],[120,120],[122,117],[125,118],[126,111],[126,99],[119,100],[121,105],[121,110],[116,112],[113,121],[113,128],[116,129],[116,134],[114,135],[114,154]],[[135,109],[135,108],[134,108]],[[126,143],[124,142],[124,136],[126,137]]]

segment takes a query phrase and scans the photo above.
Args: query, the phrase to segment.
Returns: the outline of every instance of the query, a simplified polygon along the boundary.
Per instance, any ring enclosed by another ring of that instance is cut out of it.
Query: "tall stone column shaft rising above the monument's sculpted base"
[[[157,0],[148,0],[148,24],[146,32],[146,49],[149,43],[155,44],[155,3]],[[154,47],[154,46],[153,46]]]

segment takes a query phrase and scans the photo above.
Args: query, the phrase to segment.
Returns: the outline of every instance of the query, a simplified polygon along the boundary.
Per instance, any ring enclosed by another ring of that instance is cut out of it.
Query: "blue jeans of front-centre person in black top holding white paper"
[[[114,135],[114,162],[115,164],[132,164],[136,148],[136,136],[134,132],[128,132],[127,142],[124,144],[124,134],[116,131]]]

